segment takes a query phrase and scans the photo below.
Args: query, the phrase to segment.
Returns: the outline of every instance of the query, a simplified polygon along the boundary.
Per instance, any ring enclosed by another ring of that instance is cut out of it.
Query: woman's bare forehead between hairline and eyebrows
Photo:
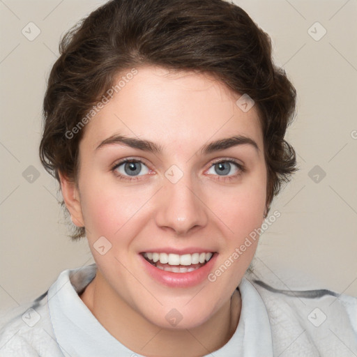
[[[114,86],[119,82],[120,90],[86,124],[82,142],[91,149],[119,132],[180,150],[233,135],[262,145],[256,108],[243,112],[236,105],[241,94],[210,75],[145,66],[135,76],[121,73]]]

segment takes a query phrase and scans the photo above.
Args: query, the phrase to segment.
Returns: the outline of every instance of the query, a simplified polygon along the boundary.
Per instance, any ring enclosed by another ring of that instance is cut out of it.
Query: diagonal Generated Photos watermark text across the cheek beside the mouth
[[[260,228],[255,228],[254,231],[251,231],[249,236],[245,237],[245,241],[239,247],[235,248],[234,252],[229,255],[229,257],[221,264],[213,273],[209,273],[207,279],[209,282],[215,282],[229,266],[234,264],[234,261],[239,259],[241,255],[252,245],[253,242],[257,241],[257,238],[270,227],[277,218],[279,218],[281,213],[279,211],[274,211],[273,215],[270,215],[266,218],[265,222],[261,225]]]

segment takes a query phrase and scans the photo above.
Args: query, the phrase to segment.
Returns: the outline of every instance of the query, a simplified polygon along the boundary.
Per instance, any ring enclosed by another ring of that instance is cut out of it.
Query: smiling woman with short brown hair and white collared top
[[[4,321],[1,356],[356,353],[355,298],[248,273],[296,171],[295,100],[266,33],[226,1],[109,1],[70,31],[40,158],[96,264]]]

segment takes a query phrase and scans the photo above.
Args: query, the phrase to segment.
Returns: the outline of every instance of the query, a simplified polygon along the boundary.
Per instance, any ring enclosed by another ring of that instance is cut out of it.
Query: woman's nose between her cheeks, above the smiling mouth
[[[160,190],[156,224],[177,236],[186,236],[208,222],[204,197],[197,185],[192,187],[189,176],[184,175],[177,183],[167,180]]]

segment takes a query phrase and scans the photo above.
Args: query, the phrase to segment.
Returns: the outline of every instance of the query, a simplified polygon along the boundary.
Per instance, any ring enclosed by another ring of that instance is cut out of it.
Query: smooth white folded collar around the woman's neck
[[[63,271],[48,291],[48,306],[54,335],[64,356],[108,357],[134,354],[116,340],[79,298],[96,275],[96,264]],[[257,290],[243,278],[238,286],[242,298],[241,317],[234,335],[208,356],[273,356],[271,326]]]

